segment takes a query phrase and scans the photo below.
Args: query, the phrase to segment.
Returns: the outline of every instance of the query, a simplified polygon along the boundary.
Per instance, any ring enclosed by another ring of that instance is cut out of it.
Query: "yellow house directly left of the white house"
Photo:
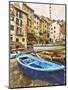
[[[50,21],[44,17],[40,17],[40,35],[42,35],[44,43],[49,42],[49,25]]]

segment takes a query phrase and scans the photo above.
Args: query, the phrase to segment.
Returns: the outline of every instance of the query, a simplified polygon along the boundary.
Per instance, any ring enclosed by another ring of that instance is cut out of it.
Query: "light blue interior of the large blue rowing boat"
[[[32,58],[28,57],[28,56],[23,56],[20,57],[20,61],[21,63],[25,64],[25,65],[29,65],[35,68],[50,68],[50,69],[54,69],[54,68],[59,68],[59,64],[55,64],[52,62],[48,62],[46,60],[42,60],[41,58],[35,57],[33,56]]]

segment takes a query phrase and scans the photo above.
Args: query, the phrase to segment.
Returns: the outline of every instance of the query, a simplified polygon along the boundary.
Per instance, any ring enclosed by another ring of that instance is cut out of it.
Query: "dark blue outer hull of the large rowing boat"
[[[18,61],[17,61],[18,62]],[[65,85],[65,71],[64,69],[56,70],[56,71],[39,71],[34,70],[28,67],[25,67],[24,65],[20,64],[18,62],[20,70],[25,73],[26,75],[34,78],[34,79],[42,79],[42,80],[48,80],[52,81],[56,84]]]

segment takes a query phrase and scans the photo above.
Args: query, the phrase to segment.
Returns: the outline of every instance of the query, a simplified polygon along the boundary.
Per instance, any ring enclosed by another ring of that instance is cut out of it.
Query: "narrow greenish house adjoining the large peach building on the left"
[[[30,8],[26,3],[23,3],[22,9],[28,14],[28,32],[32,32],[34,30],[34,10]]]

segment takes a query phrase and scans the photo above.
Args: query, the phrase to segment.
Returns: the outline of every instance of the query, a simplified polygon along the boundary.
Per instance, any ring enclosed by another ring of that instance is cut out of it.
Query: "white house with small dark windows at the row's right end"
[[[52,22],[50,25],[50,41],[56,43],[60,39],[60,25],[56,22]]]

